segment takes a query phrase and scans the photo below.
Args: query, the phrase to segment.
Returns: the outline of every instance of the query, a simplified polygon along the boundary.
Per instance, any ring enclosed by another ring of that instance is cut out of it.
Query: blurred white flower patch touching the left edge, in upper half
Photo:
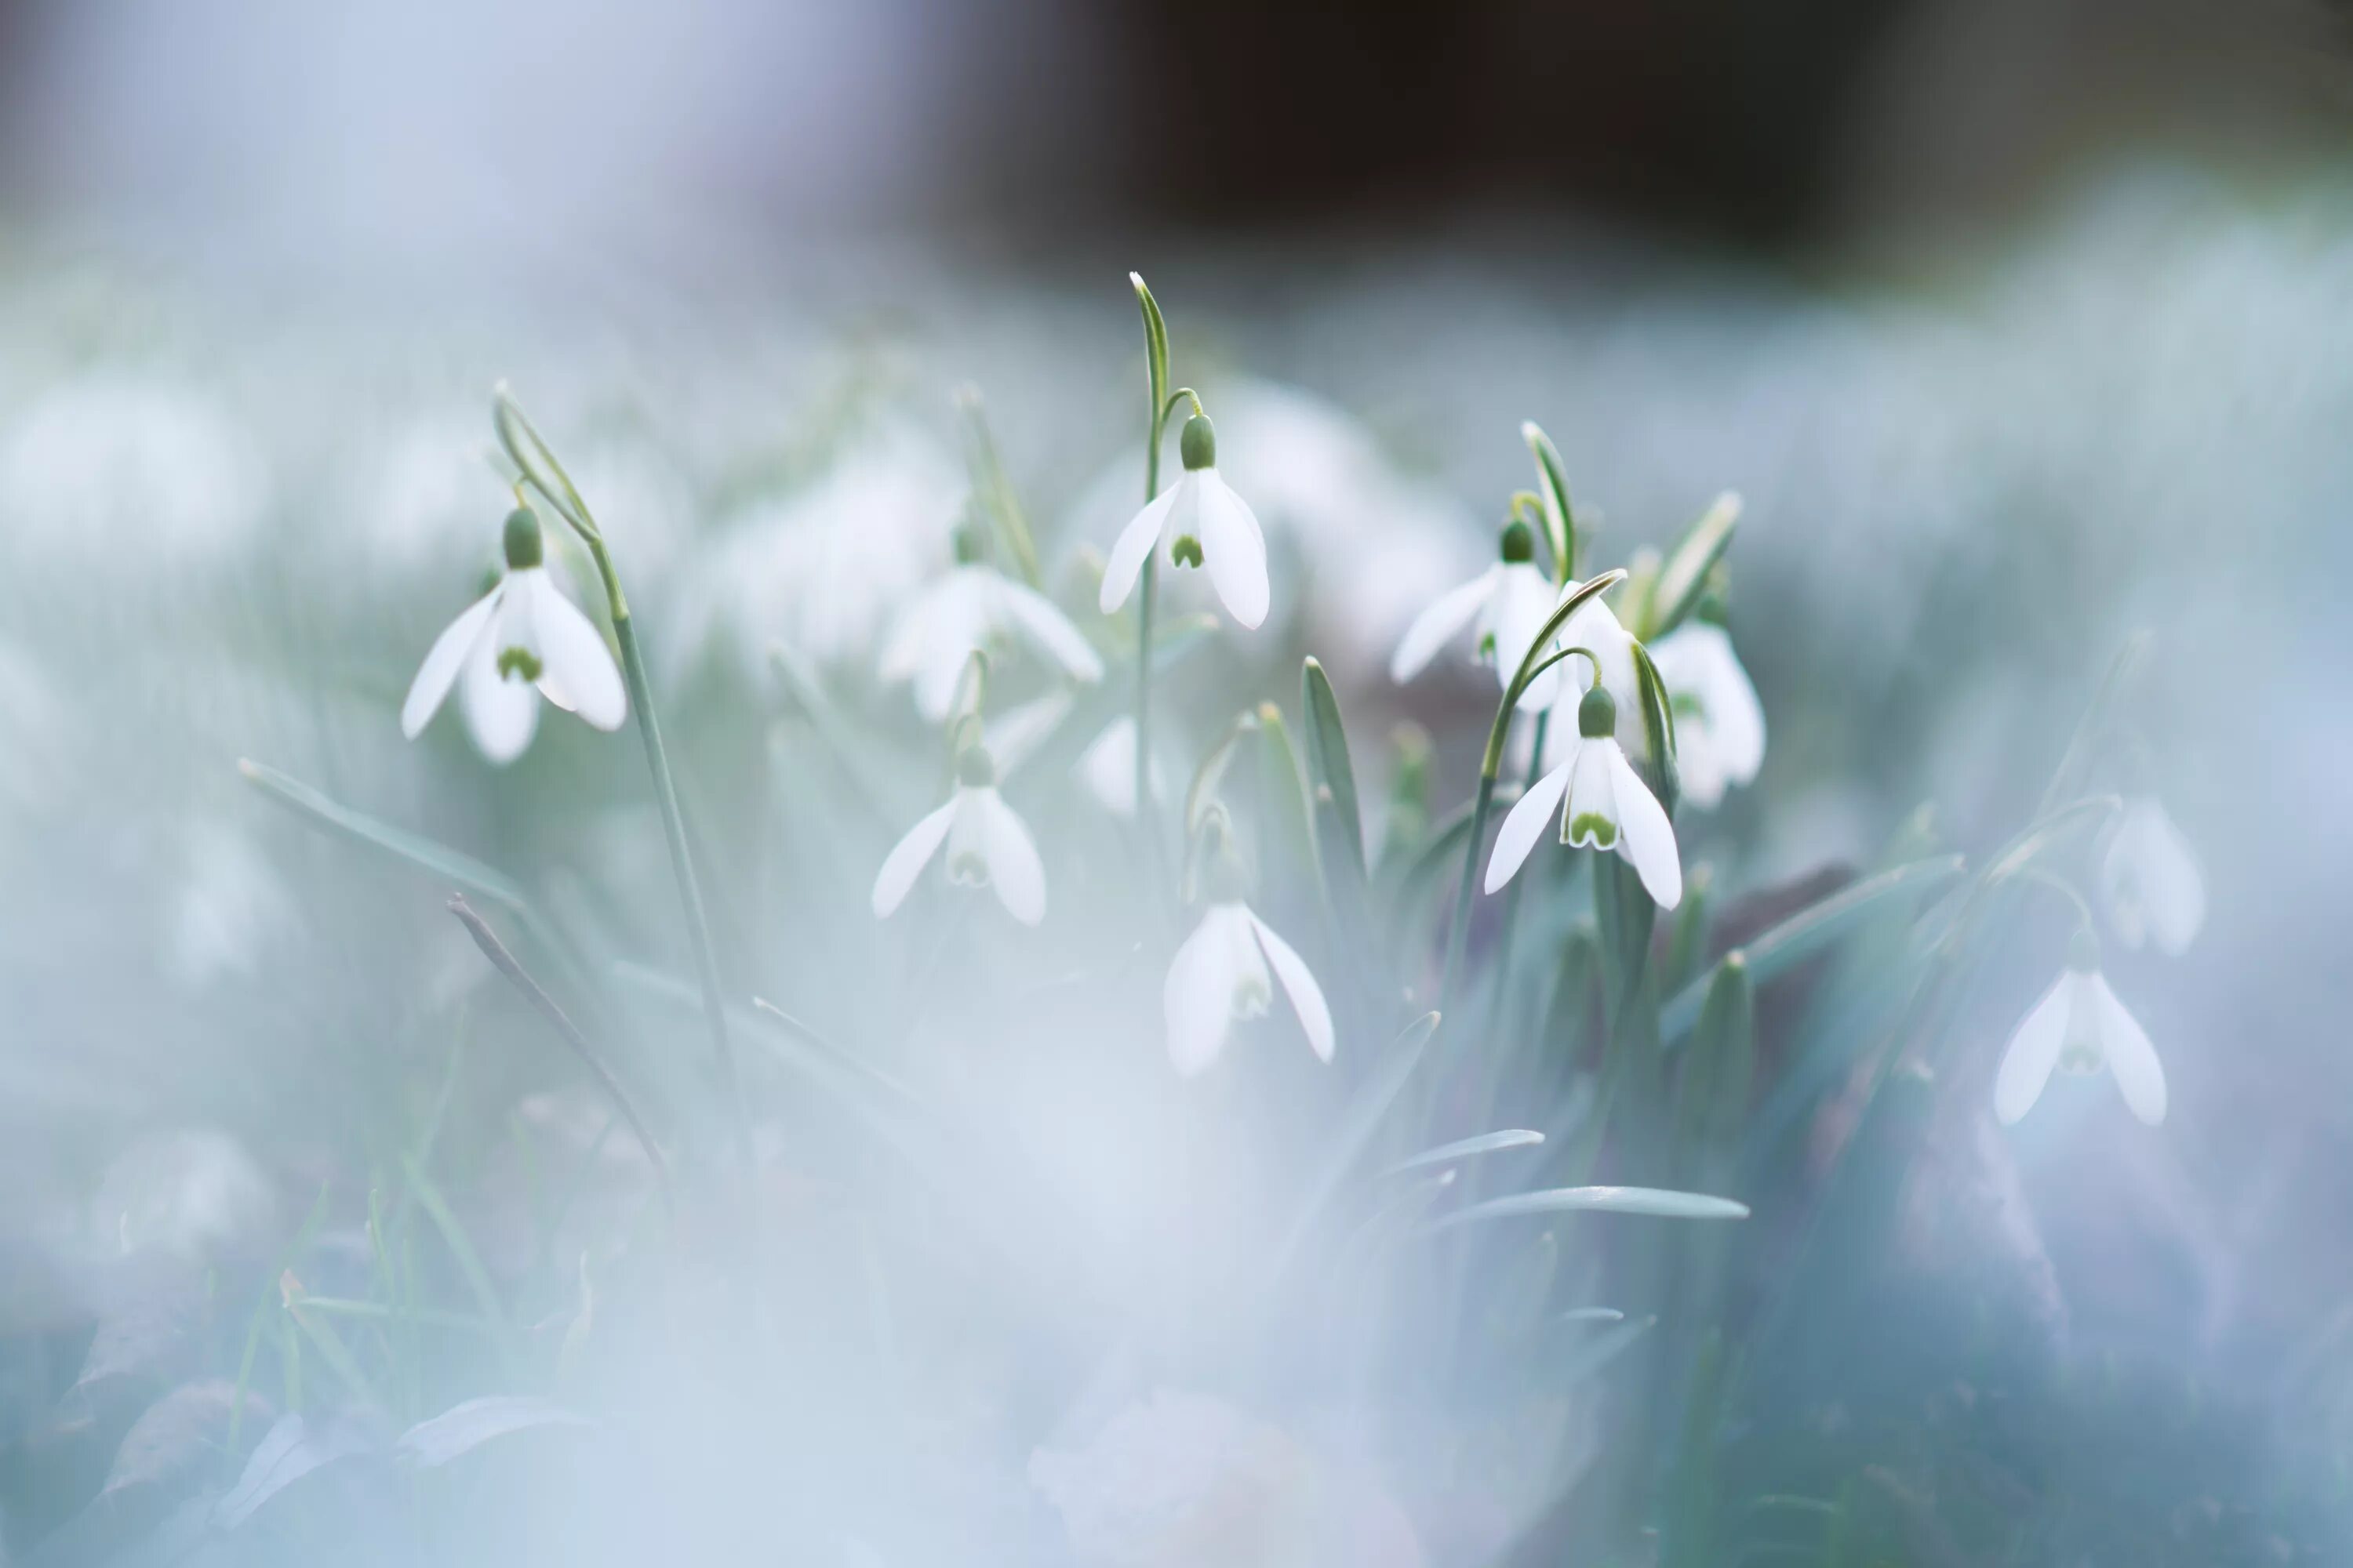
[[[87,371],[45,390],[0,435],[9,538],[73,559],[224,559],[271,503],[268,468],[193,386]]]

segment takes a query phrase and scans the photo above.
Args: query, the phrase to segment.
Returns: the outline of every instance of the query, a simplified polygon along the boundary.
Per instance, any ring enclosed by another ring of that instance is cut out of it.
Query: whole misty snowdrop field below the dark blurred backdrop
[[[0,1554],[2341,1561],[2353,205],[1588,247],[19,259]]]

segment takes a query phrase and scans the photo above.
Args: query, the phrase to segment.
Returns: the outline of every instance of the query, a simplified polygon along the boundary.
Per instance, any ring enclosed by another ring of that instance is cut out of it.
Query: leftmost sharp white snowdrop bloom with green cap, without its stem
[[[506,574],[416,668],[400,733],[414,741],[459,684],[473,743],[501,766],[529,748],[541,696],[598,729],[628,717],[621,670],[595,623],[548,581],[539,515],[527,505],[506,515]]]

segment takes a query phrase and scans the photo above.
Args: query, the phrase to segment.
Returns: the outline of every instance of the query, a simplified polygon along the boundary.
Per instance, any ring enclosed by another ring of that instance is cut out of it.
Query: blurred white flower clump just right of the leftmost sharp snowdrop
[[[864,658],[948,562],[965,489],[955,454],[915,428],[861,433],[816,477],[696,543],[666,616],[671,670],[713,639],[751,675],[776,639],[821,663]]]

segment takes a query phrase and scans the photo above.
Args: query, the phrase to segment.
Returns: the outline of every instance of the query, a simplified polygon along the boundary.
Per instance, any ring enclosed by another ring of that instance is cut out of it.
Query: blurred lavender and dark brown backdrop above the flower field
[[[2320,0],[0,0],[9,212],[400,247],[485,221],[1052,244],[1598,212],[1965,233],[2115,148],[2344,143]]]

